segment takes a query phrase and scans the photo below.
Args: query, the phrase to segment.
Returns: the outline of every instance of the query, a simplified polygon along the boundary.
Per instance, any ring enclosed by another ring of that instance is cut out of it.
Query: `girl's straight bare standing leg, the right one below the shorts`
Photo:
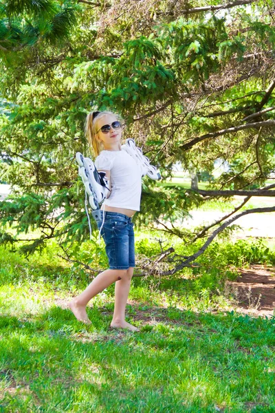
[[[115,283],[115,310],[111,327],[129,328],[131,331],[137,331],[138,328],[125,321],[125,308],[129,295],[131,279],[133,277],[133,267],[127,270],[126,277]]]

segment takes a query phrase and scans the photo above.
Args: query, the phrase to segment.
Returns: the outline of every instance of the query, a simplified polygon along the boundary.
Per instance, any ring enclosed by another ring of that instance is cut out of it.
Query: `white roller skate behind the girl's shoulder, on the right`
[[[157,168],[151,165],[150,160],[142,154],[142,149],[135,146],[134,139],[126,139],[126,144],[122,145],[122,149],[135,159],[137,165],[140,165],[142,169],[142,176],[147,175],[153,180],[159,180],[162,178]]]

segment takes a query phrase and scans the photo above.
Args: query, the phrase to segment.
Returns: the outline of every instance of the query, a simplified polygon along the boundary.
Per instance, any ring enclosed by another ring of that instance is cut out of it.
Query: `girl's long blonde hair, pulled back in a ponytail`
[[[94,152],[94,156],[98,156],[100,152],[104,149],[104,146],[100,140],[96,139],[97,124],[98,120],[105,115],[113,115],[115,118],[122,122],[122,119],[119,115],[114,114],[113,112],[90,112],[87,115],[85,122],[85,136],[89,143],[90,149]]]

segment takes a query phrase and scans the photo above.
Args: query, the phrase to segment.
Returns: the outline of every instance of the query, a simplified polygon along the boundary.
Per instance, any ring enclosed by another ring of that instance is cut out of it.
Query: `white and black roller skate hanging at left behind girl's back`
[[[89,158],[84,158],[80,152],[76,153],[76,162],[78,162],[78,174],[89,196],[91,209],[99,209],[99,204],[106,198],[107,191],[109,191],[107,181],[104,180],[104,173],[98,173],[94,162]]]

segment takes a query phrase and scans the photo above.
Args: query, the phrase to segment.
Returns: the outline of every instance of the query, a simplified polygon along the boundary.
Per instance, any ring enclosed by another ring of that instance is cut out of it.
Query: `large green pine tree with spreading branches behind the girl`
[[[34,228],[43,235],[25,242],[25,253],[51,237],[87,240],[74,156],[89,155],[83,126],[92,109],[118,112],[164,177],[177,161],[209,173],[214,160],[229,165],[210,192],[145,180],[137,224],[175,222],[208,195],[260,191],[274,171],[272,1],[219,12],[186,10],[184,1],[137,3],[1,3],[0,151],[10,162],[1,163],[0,178],[14,191],[0,218],[18,233],[5,226],[1,242]],[[197,237],[208,233],[201,231]]]

